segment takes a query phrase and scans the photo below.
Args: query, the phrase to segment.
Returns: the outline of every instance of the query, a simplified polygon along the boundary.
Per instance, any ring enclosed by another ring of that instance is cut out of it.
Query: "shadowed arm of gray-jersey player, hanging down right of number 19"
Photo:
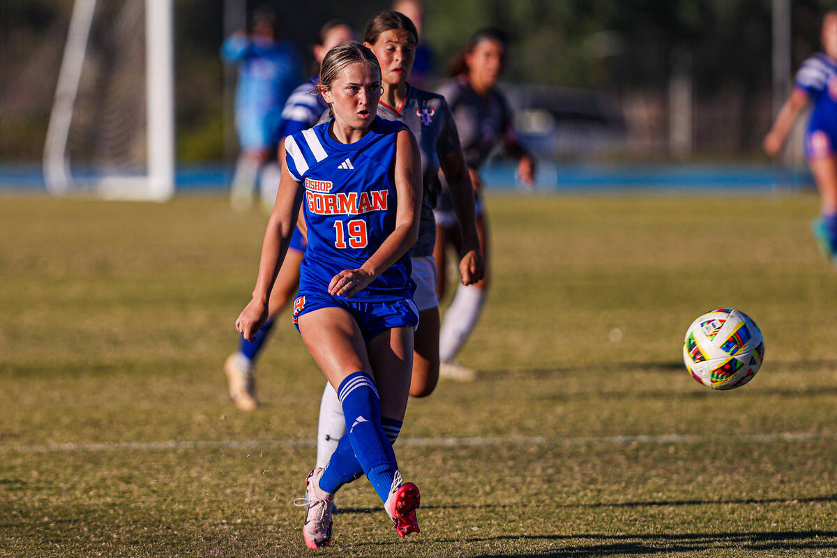
[[[480,251],[480,237],[476,232],[474,208],[474,187],[470,171],[465,166],[465,156],[457,147],[439,160],[444,178],[448,182],[454,202],[454,212],[462,229],[462,253],[460,253],[460,274],[462,284],[474,284],[485,275],[485,263]]]

